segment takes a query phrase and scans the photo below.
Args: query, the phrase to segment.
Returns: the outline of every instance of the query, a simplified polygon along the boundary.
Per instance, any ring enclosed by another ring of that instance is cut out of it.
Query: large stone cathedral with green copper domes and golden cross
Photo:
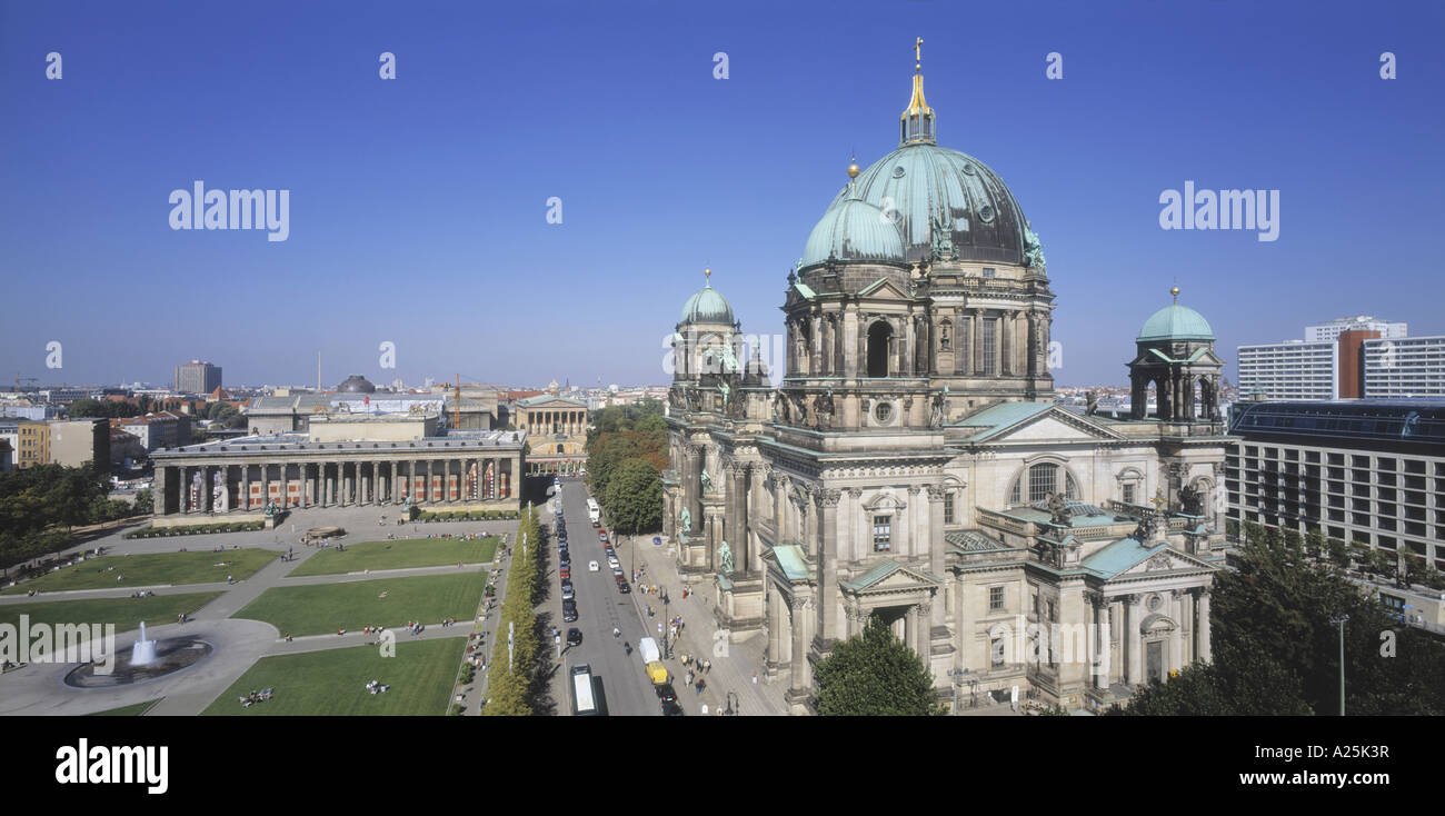
[[[793,713],[873,615],[941,702],[1098,709],[1209,660],[1222,361],[1176,289],[1136,339],[1130,417],[1056,404],[1039,237],[936,134],[915,65],[899,147],[848,166],[788,274],[780,387],[711,280],[688,299],[663,533],[717,625],[766,638]]]

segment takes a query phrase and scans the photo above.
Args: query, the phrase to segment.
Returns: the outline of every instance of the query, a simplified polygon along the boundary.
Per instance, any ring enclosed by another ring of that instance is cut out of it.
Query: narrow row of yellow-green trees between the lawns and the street
[[[536,507],[527,507],[512,543],[507,566],[507,596],[501,602],[501,617],[494,630],[491,667],[487,670],[487,705],[484,716],[529,716],[538,687],[545,682],[539,670],[542,638],[538,633],[536,602],[542,588],[542,526]],[[512,651],[507,651],[507,633]]]

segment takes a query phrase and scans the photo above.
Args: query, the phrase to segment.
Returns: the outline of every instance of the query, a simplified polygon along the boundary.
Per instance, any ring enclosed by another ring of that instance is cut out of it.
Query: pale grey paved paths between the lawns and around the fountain
[[[383,510],[393,511],[387,513],[387,523],[384,526],[379,524]],[[221,692],[230,687],[262,657],[344,648],[377,641],[379,635],[376,633],[363,634],[353,631],[341,635],[322,634],[293,637],[290,641],[286,641],[282,638],[282,633],[277,633],[270,624],[231,617],[267,589],[279,586],[384,581],[399,576],[455,575],[458,570],[475,573],[477,581],[483,582],[486,581],[484,573],[496,569],[496,565],[490,563],[464,563],[461,568],[457,565],[447,565],[370,570],[364,573],[353,572],[341,575],[286,578],[286,575],[295,568],[305,563],[306,559],[319,552],[318,547],[303,546],[299,542],[308,527],[322,526],[344,527],[347,530],[347,537],[342,539],[342,543],[383,540],[389,533],[394,534],[397,539],[425,539],[429,534],[444,533],[449,533],[452,536],[487,533],[493,536],[507,534],[510,540],[514,537],[517,530],[517,521],[448,521],[397,526],[394,523],[394,508],[341,507],[293,510],[283,518],[282,524],[279,524],[276,530],[137,540],[126,540],[123,537],[124,530],[117,530],[113,534],[88,540],[65,550],[62,555],[84,552],[97,546],[105,547],[105,555],[173,553],[181,547],[185,547],[188,552],[197,552],[210,550],[217,546],[240,546],[273,550],[277,556],[290,549],[295,559],[288,562],[277,557],[253,576],[244,581],[237,581],[236,583],[220,581],[212,583],[186,583],[175,586],[126,585],[123,588],[42,592],[38,596],[27,596],[25,594],[0,596],[0,605],[36,607],[49,602],[79,601],[90,598],[129,598],[137,589],[150,589],[158,595],[192,592],[221,594],[214,601],[195,611],[185,624],[176,622],[147,627],[147,635],[155,640],[184,635],[188,638],[208,641],[215,650],[210,657],[195,666],[155,680],[129,686],[117,686],[111,689],[74,689],[62,682],[64,676],[74,669],[74,664],[32,663],[23,669],[14,669],[0,674],[0,715],[84,715],[156,699],[160,702],[152,706],[146,712],[146,716],[197,715],[211,705],[211,702]],[[494,560],[500,562],[501,559],[499,557]],[[497,598],[504,596],[504,583],[499,581]],[[488,602],[484,598],[483,611],[486,611],[487,605]],[[392,631],[396,634],[397,643],[403,643],[406,640],[473,635],[478,635],[475,640],[480,643],[490,643],[490,625],[496,617],[496,614],[484,614],[478,621],[464,621],[458,617],[457,625],[452,627],[436,625],[439,621],[420,621],[425,625],[425,630],[416,635],[407,634],[402,628],[393,628]],[[139,630],[118,634],[116,638],[117,651],[129,651],[139,634]],[[477,699],[483,693],[481,683],[484,683],[484,676],[486,674],[483,672],[478,672],[473,686],[462,690],[462,702],[467,703],[468,713],[475,713]]]

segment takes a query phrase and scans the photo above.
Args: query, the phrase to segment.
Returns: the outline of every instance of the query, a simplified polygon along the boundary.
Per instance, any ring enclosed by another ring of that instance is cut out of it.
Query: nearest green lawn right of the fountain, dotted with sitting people
[[[221,692],[202,715],[221,716],[361,716],[447,713],[464,637],[397,641],[396,656],[374,646],[328,648],[262,657]],[[371,680],[392,686],[366,690]],[[272,699],[241,708],[240,698],[272,689]]]

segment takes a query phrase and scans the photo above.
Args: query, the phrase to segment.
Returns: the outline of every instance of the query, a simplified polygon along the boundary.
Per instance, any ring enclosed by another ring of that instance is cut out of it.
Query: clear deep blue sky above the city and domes
[[[704,266],[782,331],[850,153],[896,147],[915,36],[939,143],[1042,237],[1059,384],[1123,383],[1175,282],[1227,360],[1341,315],[1445,334],[1442,33],[1399,1],[4,1],[0,378],[312,383],[321,351],[327,384],[665,381]],[[171,230],[195,179],[289,189],[289,240]],[[1279,189],[1279,240],[1160,230],[1186,179]]]

